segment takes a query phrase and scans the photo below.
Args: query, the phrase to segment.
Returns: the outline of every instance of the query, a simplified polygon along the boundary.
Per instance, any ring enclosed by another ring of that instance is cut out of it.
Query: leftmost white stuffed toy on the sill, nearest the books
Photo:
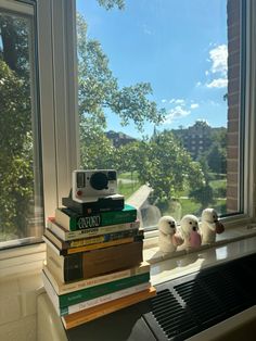
[[[183,242],[181,236],[177,233],[177,224],[171,216],[165,215],[159,218],[158,231],[158,245],[164,253],[175,252]]]

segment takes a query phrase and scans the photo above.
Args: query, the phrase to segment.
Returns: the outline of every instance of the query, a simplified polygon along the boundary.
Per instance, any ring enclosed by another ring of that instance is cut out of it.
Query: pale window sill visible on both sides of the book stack
[[[153,236],[156,236],[156,231]],[[251,250],[251,239],[254,240],[252,238],[254,236],[256,236],[256,225],[227,229],[225,233],[218,236],[214,245],[204,245],[194,252],[179,250],[175,254],[159,252],[157,237],[146,238],[143,258],[151,264],[152,282],[156,283],[196,271],[219,261],[227,261],[232,256],[240,256],[243,248],[245,251],[247,250],[247,244],[248,252],[254,252],[256,237]],[[229,252],[229,250],[231,251]],[[44,243],[2,250],[0,252],[0,278],[40,271],[44,260]]]

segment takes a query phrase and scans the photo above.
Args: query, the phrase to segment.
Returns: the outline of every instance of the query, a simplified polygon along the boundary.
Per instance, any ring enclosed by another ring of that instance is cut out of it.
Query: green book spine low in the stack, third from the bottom
[[[92,300],[118,290],[127,289],[150,280],[150,273],[136,275],[129,278],[121,278],[108,283],[86,288],[82,290],[59,295],[60,308],[74,305],[87,300]]]

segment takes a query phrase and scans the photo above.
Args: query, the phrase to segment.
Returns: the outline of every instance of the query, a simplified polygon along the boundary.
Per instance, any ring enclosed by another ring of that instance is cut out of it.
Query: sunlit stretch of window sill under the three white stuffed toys
[[[157,242],[157,238],[155,239]],[[155,286],[219,263],[255,253],[255,250],[256,226],[252,225],[230,229],[218,236],[215,244],[201,247],[193,252],[180,250],[174,254],[164,254],[159,252],[156,244],[146,248],[143,257],[151,264],[151,281]]]

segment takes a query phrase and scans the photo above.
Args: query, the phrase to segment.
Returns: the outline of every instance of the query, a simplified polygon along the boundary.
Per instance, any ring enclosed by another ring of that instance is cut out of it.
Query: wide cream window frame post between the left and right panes
[[[0,9],[27,15],[35,23],[31,70],[37,84],[31,86],[37,87],[35,105],[40,116],[46,219],[68,194],[79,160],[75,1],[1,0]]]

